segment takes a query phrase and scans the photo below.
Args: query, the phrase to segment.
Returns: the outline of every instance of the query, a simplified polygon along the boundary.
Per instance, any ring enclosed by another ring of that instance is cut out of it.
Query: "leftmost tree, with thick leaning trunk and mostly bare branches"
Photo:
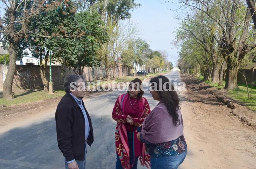
[[[38,15],[42,10],[50,10],[59,6],[61,1],[55,1],[48,5],[46,0],[1,0],[5,6],[4,17],[0,17],[0,33],[6,37],[9,51],[9,66],[3,84],[3,97],[12,99],[13,78],[16,69],[17,49],[20,40],[33,33],[28,29],[32,16]]]

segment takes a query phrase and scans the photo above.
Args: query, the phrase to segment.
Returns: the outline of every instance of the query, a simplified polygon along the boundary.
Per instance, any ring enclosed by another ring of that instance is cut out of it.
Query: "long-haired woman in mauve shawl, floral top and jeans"
[[[150,83],[150,93],[159,103],[144,120],[137,139],[146,143],[151,169],[176,169],[187,154],[180,100],[165,76],[152,78]]]

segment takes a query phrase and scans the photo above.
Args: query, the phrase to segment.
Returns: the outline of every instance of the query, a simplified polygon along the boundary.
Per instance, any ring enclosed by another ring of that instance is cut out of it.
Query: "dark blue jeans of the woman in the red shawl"
[[[129,148],[130,148],[130,165],[132,165],[133,162],[134,162],[132,169],[137,169],[138,157],[134,157],[134,152],[133,152],[133,132],[129,132],[128,131],[127,132],[127,137],[128,137]],[[135,138],[135,139],[137,139],[137,138]],[[117,154],[116,169],[123,169],[118,154]]]

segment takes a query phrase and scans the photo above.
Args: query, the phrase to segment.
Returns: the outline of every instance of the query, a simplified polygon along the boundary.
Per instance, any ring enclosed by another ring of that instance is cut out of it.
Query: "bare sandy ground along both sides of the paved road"
[[[255,128],[242,123],[234,109],[216,101],[216,94],[207,85],[199,85],[188,76],[182,76],[182,80],[187,89],[180,94],[188,154],[180,169],[256,169]],[[1,106],[0,133],[47,117],[55,111],[59,100]],[[246,107],[239,110],[255,117]]]

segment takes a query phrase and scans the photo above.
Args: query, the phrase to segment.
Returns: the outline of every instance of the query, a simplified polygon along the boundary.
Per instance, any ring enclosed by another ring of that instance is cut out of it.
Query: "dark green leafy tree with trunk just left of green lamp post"
[[[56,39],[68,38],[74,35],[77,37],[80,34],[78,29],[71,27],[74,25],[75,13],[74,3],[68,1],[62,4],[61,8],[43,10],[30,19],[28,28],[36,34],[28,34],[28,47],[32,56],[39,58],[41,80],[46,92],[49,91],[48,79],[46,78],[49,54],[50,51],[54,50],[54,46],[60,47]],[[57,35],[59,38],[54,37],[54,35]]]

